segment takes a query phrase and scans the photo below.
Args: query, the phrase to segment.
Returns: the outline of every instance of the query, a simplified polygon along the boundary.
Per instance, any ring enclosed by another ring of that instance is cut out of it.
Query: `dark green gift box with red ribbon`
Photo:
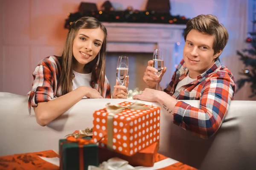
[[[81,142],[84,139],[89,141],[91,138],[75,139],[71,136],[71,138],[59,140],[60,170],[87,170],[89,165],[99,166],[98,146],[84,144]]]

